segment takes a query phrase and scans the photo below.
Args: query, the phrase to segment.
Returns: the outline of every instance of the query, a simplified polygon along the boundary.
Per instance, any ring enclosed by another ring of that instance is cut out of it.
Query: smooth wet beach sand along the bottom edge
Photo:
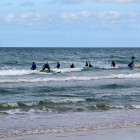
[[[1,140],[140,140],[140,127],[26,135]]]

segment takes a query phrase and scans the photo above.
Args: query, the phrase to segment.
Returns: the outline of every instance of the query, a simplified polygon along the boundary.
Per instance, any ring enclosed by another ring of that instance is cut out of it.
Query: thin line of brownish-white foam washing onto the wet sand
[[[34,129],[34,130],[13,130],[8,133],[0,135],[0,138],[22,136],[22,135],[34,135],[34,134],[48,134],[48,133],[64,133],[64,132],[79,132],[79,131],[90,131],[90,130],[102,130],[102,129],[114,129],[114,128],[127,128],[138,126],[139,124],[119,124],[119,125],[108,125],[108,126],[91,126],[91,127],[77,127],[77,128],[51,128],[51,129]]]

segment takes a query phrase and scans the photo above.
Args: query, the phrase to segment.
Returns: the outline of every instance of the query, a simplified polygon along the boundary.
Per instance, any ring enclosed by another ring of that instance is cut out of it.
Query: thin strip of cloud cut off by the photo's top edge
[[[84,2],[116,2],[116,3],[128,3],[128,2],[138,2],[138,0],[52,0],[58,3],[84,3]]]

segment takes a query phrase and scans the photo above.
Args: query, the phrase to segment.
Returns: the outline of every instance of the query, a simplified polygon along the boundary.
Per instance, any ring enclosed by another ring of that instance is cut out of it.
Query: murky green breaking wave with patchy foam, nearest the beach
[[[93,105],[88,106],[77,106],[77,103],[91,102]],[[70,105],[74,105],[71,106]],[[66,105],[66,106],[65,106]],[[69,106],[68,106],[69,105]],[[59,106],[59,107],[58,107]],[[0,104],[0,113],[5,112],[12,114],[15,112],[36,112],[36,111],[96,111],[96,110],[111,110],[111,109],[140,109],[140,105],[125,104],[125,105],[109,105],[105,103],[96,103],[95,101],[83,98],[60,98],[51,99],[44,101],[34,101],[34,102],[8,102]]]

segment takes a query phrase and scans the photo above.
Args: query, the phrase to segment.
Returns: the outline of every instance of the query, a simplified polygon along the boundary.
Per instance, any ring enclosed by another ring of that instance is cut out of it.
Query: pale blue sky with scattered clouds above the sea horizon
[[[140,47],[140,0],[0,0],[0,47]]]

